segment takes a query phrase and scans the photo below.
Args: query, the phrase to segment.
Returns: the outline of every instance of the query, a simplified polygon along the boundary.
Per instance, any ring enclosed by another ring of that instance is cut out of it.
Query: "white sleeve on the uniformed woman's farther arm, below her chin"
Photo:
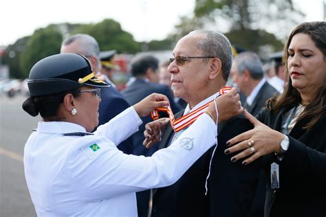
[[[116,117],[113,117],[106,124],[99,126],[94,134],[107,137],[118,146],[124,139],[137,132],[140,124],[142,124],[142,119],[140,119],[133,106],[131,106],[119,115],[116,115]]]

